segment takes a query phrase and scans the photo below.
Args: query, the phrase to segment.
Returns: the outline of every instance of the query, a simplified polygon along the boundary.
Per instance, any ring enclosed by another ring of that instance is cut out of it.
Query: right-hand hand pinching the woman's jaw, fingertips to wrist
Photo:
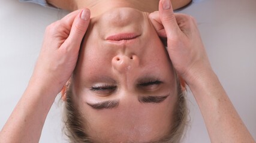
[[[159,1],[159,11],[149,15],[158,35],[167,38],[167,51],[179,76],[189,85],[211,70],[197,23],[185,14],[174,14],[170,0]]]

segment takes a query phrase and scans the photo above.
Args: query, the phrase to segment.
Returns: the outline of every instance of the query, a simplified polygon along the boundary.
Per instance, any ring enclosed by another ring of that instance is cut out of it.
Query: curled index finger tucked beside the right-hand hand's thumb
[[[160,37],[166,38],[166,33],[164,26],[162,26],[162,22],[159,17],[159,11],[155,11],[153,13],[149,14],[149,19],[151,23],[153,24],[153,27],[155,27],[156,32]]]

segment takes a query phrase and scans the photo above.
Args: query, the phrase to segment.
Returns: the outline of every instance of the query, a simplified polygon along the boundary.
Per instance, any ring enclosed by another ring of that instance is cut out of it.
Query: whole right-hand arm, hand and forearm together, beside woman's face
[[[170,0],[160,0],[149,15],[177,74],[191,89],[212,142],[255,142],[212,70],[195,18],[174,14]]]

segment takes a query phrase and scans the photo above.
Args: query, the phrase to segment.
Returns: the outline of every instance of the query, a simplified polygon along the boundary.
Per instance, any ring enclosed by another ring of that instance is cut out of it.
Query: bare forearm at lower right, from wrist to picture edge
[[[212,70],[189,85],[211,142],[255,142]]]

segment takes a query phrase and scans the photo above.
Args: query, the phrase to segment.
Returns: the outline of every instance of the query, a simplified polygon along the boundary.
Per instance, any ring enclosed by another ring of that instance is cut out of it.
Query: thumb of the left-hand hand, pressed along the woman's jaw
[[[64,43],[69,43],[71,47],[80,48],[83,36],[89,26],[90,11],[88,9],[82,10],[74,19],[73,25],[70,30],[70,35]]]

